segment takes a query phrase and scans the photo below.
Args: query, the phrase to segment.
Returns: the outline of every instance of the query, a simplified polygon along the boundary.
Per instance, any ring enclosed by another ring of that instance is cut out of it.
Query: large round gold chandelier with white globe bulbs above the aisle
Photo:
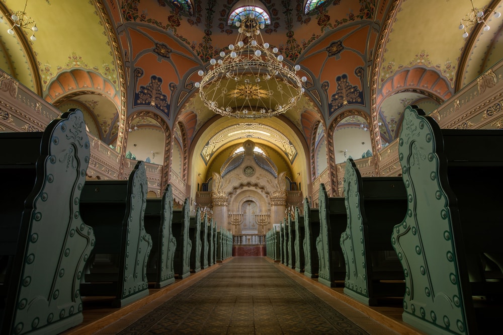
[[[300,66],[283,62],[278,48],[264,42],[260,30],[265,24],[255,11],[245,13],[235,24],[236,43],[228,46],[227,53],[220,52],[218,60],[210,60],[210,70],[199,70],[202,79],[195,86],[203,103],[224,116],[257,119],[285,113],[304,93],[306,77],[299,78]]]

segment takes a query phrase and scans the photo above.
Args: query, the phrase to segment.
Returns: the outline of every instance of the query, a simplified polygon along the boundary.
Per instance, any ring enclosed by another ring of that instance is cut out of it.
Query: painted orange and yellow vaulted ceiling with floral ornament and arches
[[[0,0],[0,10],[22,3]],[[61,109],[84,110],[107,144],[117,145],[122,123],[126,137],[135,126],[164,130],[195,157],[220,130],[242,123],[215,116],[194,87],[198,70],[236,42],[227,20],[241,3],[194,0],[189,16],[169,0],[28,0],[37,40],[20,29],[9,35],[4,19],[0,67]],[[378,149],[398,135],[405,105],[431,111],[503,57],[501,18],[490,17],[487,32],[478,25],[461,36],[469,0],[332,0],[308,15],[304,3],[256,1],[271,17],[264,39],[308,78],[300,103],[264,123],[281,127],[306,158],[320,122],[328,131],[345,115],[363,116],[366,126],[378,124]],[[502,3],[473,0],[496,11]],[[144,114],[132,123],[136,113]]]

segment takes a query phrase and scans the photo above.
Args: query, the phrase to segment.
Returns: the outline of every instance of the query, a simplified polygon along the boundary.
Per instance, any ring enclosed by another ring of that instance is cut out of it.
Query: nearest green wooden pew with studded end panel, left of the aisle
[[[82,112],[0,142],[0,333],[59,333],[82,322],[78,284],[95,244],[78,208],[90,157]]]

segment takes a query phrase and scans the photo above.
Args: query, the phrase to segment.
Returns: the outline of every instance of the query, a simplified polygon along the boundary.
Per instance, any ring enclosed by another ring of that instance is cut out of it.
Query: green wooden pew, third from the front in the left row
[[[145,230],[152,238],[152,251],[148,258],[147,280],[155,288],[175,282],[173,259],[177,240],[173,236],[173,193],[167,185],[162,198],[147,198]]]

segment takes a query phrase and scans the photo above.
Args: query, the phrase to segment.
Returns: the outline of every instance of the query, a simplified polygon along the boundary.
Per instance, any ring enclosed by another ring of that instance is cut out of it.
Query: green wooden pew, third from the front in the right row
[[[344,197],[328,197],[325,185],[320,184],[318,214],[318,282],[328,287],[343,286],[346,264],[340,240],[348,224]]]

